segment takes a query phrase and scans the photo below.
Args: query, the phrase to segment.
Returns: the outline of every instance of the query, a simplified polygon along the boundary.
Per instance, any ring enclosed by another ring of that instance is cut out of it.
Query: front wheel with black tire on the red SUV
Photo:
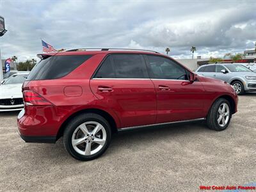
[[[209,129],[223,131],[227,129],[232,118],[232,110],[228,100],[217,99],[207,115],[206,121]]]

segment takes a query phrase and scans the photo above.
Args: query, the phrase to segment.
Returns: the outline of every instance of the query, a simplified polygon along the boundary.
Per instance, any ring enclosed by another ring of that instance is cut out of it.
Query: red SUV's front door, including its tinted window
[[[157,124],[204,117],[204,87],[190,72],[163,56],[145,56],[157,93]]]

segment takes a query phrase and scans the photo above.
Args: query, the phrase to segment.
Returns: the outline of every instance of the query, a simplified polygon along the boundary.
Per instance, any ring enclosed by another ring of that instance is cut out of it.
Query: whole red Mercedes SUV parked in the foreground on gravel
[[[22,87],[20,137],[55,143],[63,136],[79,160],[103,154],[117,131],[193,120],[222,131],[237,111],[230,84],[197,76],[158,52],[73,49],[38,56]]]

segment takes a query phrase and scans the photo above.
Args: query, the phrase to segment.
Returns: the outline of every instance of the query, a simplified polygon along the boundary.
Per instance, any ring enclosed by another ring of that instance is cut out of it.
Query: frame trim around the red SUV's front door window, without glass
[[[147,69],[148,69],[148,74],[149,74],[150,79],[154,79],[154,80],[169,80],[169,81],[189,81],[187,79],[156,79],[154,77],[154,73],[152,72],[152,68],[150,67],[150,64],[149,64],[148,55],[149,56],[156,56],[156,57],[159,57],[159,58],[164,58],[166,60],[172,61],[173,63],[175,63],[178,66],[180,66],[181,68],[183,68],[185,73],[186,73],[186,75],[187,75],[187,78],[189,78],[189,77],[188,77],[187,69],[185,67],[183,67],[182,65],[180,65],[180,63],[178,63],[177,61],[173,60],[172,58],[167,58],[167,57],[164,57],[164,56],[161,56],[161,55],[155,55],[155,54],[144,54],[143,57],[144,57],[145,62],[147,64]]]

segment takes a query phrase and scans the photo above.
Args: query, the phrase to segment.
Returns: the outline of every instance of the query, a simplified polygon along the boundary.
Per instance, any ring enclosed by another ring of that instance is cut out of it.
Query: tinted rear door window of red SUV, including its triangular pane
[[[147,66],[140,54],[112,54],[102,63],[97,78],[148,78]]]

